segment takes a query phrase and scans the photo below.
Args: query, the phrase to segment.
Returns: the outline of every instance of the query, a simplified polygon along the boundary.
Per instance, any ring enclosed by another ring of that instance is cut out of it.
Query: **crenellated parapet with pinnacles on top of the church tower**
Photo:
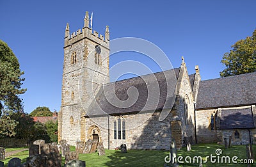
[[[97,42],[100,45],[106,45],[106,47],[109,47],[109,28],[106,26],[105,31],[105,37],[104,35],[99,35],[97,31],[92,31],[92,28],[89,28],[89,14],[88,11],[86,12],[86,15],[84,17],[84,27],[82,29],[78,29],[76,32],[71,33],[69,30],[69,24],[67,24],[65,29],[65,44],[64,47],[67,47],[69,45],[72,45],[79,40],[83,40],[84,38],[88,38],[90,40],[93,40],[94,42]]]

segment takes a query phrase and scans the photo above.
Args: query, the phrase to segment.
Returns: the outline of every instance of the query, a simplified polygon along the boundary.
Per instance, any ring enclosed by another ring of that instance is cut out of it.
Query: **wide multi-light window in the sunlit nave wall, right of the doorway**
[[[118,118],[114,120],[114,139],[125,139],[125,120]]]

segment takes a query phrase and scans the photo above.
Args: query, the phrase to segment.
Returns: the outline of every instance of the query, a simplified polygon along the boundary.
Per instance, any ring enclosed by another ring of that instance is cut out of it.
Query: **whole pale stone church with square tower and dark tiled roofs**
[[[196,143],[223,143],[230,136],[232,144],[255,143],[256,73],[201,81],[198,66],[189,74],[182,58],[178,68],[109,83],[109,28],[99,35],[89,22],[86,12],[82,29],[71,35],[68,24],[65,29],[58,141],[98,139],[109,149],[125,143],[128,149],[163,150],[170,150],[172,138],[181,148],[184,137]],[[143,106],[154,91],[145,81],[159,86],[159,99],[148,107]],[[175,97],[166,93],[169,86]],[[138,90],[132,106],[109,102],[129,99],[131,87]],[[170,97],[173,106],[166,105]]]

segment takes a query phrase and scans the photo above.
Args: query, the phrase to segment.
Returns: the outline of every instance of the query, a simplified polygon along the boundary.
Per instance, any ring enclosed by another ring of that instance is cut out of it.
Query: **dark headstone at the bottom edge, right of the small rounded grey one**
[[[32,155],[27,157],[26,167],[47,167],[47,155]]]

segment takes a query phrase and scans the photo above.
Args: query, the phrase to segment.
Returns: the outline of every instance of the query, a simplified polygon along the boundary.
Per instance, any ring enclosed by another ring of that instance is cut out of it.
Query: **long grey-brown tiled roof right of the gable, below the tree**
[[[200,81],[196,109],[256,104],[256,72]]]

